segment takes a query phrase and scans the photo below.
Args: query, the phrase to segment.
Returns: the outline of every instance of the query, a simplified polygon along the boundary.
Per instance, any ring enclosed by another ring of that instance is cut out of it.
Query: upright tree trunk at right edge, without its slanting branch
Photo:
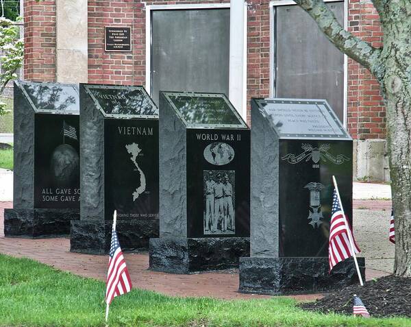
[[[395,217],[395,267],[411,276],[411,10],[409,1],[392,0],[381,15],[384,49],[378,68],[387,115],[387,143]],[[408,5],[406,4],[408,3]]]

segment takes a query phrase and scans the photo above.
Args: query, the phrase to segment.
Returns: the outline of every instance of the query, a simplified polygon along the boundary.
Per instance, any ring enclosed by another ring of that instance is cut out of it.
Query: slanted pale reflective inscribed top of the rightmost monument
[[[327,101],[256,99],[279,138],[351,139]]]

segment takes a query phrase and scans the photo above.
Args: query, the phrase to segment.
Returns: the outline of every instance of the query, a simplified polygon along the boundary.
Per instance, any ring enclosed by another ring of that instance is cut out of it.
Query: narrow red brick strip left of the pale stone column
[[[55,1],[24,1],[24,78],[55,81]]]

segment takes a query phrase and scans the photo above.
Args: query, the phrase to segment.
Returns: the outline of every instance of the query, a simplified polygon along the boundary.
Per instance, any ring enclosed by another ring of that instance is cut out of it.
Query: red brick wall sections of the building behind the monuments
[[[229,0],[88,1],[88,82],[145,85],[145,4],[221,3]],[[269,0],[247,1],[247,104],[251,97],[268,97]],[[133,51],[104,51],[104,27],[132,27]],[[350,0],[349,30],[379,47],[382,31],[370,0]],[[25,1],[25,79],[55,81],[55,1]],[[385,138],[385,110],[379,85],[349,59],[348,121],[353,138]],[[249,121],[249,114],[247,116]]]

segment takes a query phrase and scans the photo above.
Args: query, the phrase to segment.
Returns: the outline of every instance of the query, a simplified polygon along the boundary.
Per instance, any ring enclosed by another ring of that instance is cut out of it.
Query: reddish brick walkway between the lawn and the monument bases
[[[0,202],[0,253],[16,257],[28,257],[57,269],[71,271],[85,277],[105,280],[107,256],[75,254],[69,252],[70,240],[15,239],[3,234],[3,209],[11,208],[12,202]],[[149,267],[148,254],[125,254],[134,287],[178,296],[208,296],[222,299],[268,298],[264,295],[238,293],[238,272],[177,275],[153,272]],[[383,271],[366,270],[366,279],[387,275]],[[314,300],[321,294],[296,295],[297,300]]]

